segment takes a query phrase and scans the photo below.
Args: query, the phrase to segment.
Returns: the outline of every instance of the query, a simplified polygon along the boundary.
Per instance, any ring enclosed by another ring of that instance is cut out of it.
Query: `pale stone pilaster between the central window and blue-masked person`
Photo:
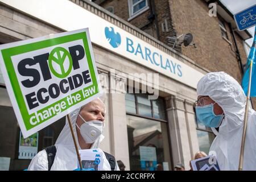
[[[192,159],[193,152],[198,148],[198,141],[195,121],[192,120],[192,113],[191,111],[185,110],[191,108],[185,103],[185,100],[175,96],[166,98],[172,161],[174,166],[178,163],[183,163],[187,170],[190,169],[189,161]],[[192,144],[193,142],[196,142],[196,144]]]

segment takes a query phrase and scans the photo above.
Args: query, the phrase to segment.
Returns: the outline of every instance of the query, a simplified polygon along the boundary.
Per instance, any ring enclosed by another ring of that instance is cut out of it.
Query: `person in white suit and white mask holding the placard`
[[[72,127],[75,133],[76,141],[78,141],[79,150],[98,148],[104,135],[104,115],[105,106],[100,98],[89,102],[82,106],[80,109],[72,111],[70,114]],[[96,137],[88,137],[89,131],[93,128]],[[55,143],[56,155],[53,160],[51,171],[56,170],[68,170],[72,171],[77,169],[77,155],[75,150],[75,144],[73,142],[71,130],[68,125],[68,119],[66,117],[66,123],[61,131],[59,137]],[[100,150],[100,148],[98,148]],[[101,151],[101,150],[100,150]],[[103,151],[101,151],[104,154]],[[102,170],[110,171],[110,163],[106,159],[105,154],[102,155],[103,166]],[[38,152],[38,154],[31,160],[28,171],[48,171],[48,159],[46,150]],[[119,171],[118,164],[115,162],[115,171]]]

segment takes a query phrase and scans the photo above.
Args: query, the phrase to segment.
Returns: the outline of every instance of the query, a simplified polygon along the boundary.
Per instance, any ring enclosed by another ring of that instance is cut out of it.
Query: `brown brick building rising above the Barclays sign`
[[[191,33],[196,48],[182,45],[179,51],[184,56],[189,57],[210,72],[224,71],[241,82],[242,70],[238,61],[236,44],[242,64],[246,64],[247,55],[243,44],[246,39],[251,38],[251,35],[247,31],[243,31],[242,34],[237,31],[232,14],[220,1],[147,0],[148,9],[134,16],[129,15],[129,0],[96,0],[94,2],[105,9],[113,7],[115,15],[127,20],[164,44],[168,43],[168,36]],[[216,3],[217,16],[209,15],[212,9],[209,6],[210,3]],[[155,8],[152,8],[153,6]],[[220,22],[226,30],[225,36],[222,35]],[[158,26],[159,36],[156,26]],[[168,31],[166,31],[166,27]],[[236,43],[232,29],[236,30],[234,31]],[[253,105],[256,106],[256,99],[252,98],[252,100]]]

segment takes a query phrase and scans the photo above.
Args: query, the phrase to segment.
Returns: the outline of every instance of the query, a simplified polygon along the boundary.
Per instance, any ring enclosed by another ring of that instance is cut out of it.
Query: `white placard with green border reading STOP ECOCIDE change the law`
[[[102,94],[88,28],[3,44],[0,52],[24,138]]]

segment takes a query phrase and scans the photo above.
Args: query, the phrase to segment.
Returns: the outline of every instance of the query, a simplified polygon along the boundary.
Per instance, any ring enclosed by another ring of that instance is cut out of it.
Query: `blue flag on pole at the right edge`
[[[249,85],[249,74],[250,74],[250,64],[251,61],[253,61],[253,71],[251,72],[251,93],[250,97],[256,97],[256,71],[255,71],[255,65],[256,65],[256,26],[255,26],[255,34],[254,34],[254,40],[253,40],[253,46],[251,46],[251,51],[247,59],[246,67],[245,67],[245,73],[243,74],[243,80],[242,80],[242,88],[243,91],[245,91],[245,94],[247,96],[247,90]]]

